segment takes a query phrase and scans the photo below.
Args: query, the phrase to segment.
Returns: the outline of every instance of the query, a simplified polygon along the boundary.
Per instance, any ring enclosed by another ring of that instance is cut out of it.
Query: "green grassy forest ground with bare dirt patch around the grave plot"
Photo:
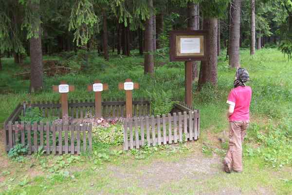
[[[284,59],[276,49],[263,49],[253,58],[248,54],[249,51],[241,51],[241,63],[250,72],[254,94],[251,125],[243,146],[242,173],[226,174],[222,170],[221,162],[227,150],[227,142],[221,143],[218,138],[222,137],[222,132],[228,132],[225,102],[228,91],[232,88],[234,70],[228,68],[224,57],[220,57],[218,87],[214,89],[207,86],[194,95],[194,103],[201,111],[201,137],[198,141],[156,147],[155,150],[141,149],[145,150],[146,154],[142,159],[135,156],[137,151],[119,154],[116,151],[121,151],[122,146],[114,146],[103,149],[108,155],[105,159],[96,159],[96,156],[88,154],[35,154],[25,156],[23,162],[17,162],[8,158],[3,149],[3,136],[0,135],[0,194],[291,195],[292,159],[289,156],[292,150],[291,147],[285,147],[292,145],[291,139],[273,134],[292,127],[284,125],[292,121],[289,117],[292,111],[289,106],[289,98],[292,98],[292,90],[289,87],[292,79],[289,74],[292,71],[292,66],[289,65],[291,62]],[[3,60],[4,65],[6,63],[12,67],[6,66],[6,72],[0,74],[0,78],[4,74],[8,75],[9,71],[10,75],[16,72],[10,60]],[[3,110],[0,113],[0,122],[3,122],[21,100],[56,100],[58,96],[50,91],[50,86],[57,84],[60,79],[69,79],[76,85],[77,92],[72,94],[73,98],[88,98],[86,93],[80,93],[81,86],[90,83],[90,79],[100,77],[106,80],[111,76],[107,81],[109,84],[110,81],[118,82],[130,77],[140,82],[140,88],[148,90],[147,87],[152,84],[140,78],[143,75],[143,67],[140,66],[143,59],[132,57],[122,59],[122,62],[123,60],[126,60],[128,67],[132,66],[131,64],[137,65],[130,67],[125,75],[115,75],[115,67],[106,64],[111,69],[107,72],[106,68],[102,74],[45,78],[46,92],[32,96],[21,91],[23,87],[27,87],[26,81],[11,81],[11,88],[5,86],[6,81],[1,82],[2,89],[7,93],[0,94],[0,109]],[[183,89],[183,65],[165,66],[157,68],[156,87],[175,91],[174,87],[179,83]],[[18,71],[20,70],[18,68]],[[172,79],[173,83],[167,83],[163,80],[164,77]],[[144,95],[143,93],[146,92],[134,92],[134,96],[139,97],[139,94]],[[109,97],[113,95],[123,94],[106,94]],[[278,142],[272,143],[273,140]],[[285,146],[279,145],[282,143]]]

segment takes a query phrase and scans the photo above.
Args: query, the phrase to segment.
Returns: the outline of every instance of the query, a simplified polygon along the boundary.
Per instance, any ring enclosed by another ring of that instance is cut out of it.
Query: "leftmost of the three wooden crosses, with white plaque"
[[[68,85],[66,81],[61,81],[60,85],[54,85],[53,90],[61,94],[61,109],[62,118],[69,117],[68,115],[68,93],[75,90],[73,85]]]

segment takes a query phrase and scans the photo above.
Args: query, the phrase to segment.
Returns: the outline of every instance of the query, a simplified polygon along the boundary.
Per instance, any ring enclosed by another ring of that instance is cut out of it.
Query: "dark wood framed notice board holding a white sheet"
[[[170,61],[202,61],[206,59],[206,31],[170,31]]]

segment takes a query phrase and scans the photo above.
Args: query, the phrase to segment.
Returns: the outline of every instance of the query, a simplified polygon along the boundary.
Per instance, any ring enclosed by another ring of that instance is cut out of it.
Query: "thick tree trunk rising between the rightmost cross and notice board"
[[[154,57],[153,57],[153,0],[148,0],[150,8],[149,18],[146,20],[145,28],[145,55],[144,55],[144,74],[154,72]]]

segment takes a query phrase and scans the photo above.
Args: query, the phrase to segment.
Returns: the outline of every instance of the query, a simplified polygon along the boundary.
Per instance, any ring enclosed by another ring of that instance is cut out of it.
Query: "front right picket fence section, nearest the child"
[[[162,117],[135,117],[124,120],[124,150],[197,140],[200,136],[198,110]]]

